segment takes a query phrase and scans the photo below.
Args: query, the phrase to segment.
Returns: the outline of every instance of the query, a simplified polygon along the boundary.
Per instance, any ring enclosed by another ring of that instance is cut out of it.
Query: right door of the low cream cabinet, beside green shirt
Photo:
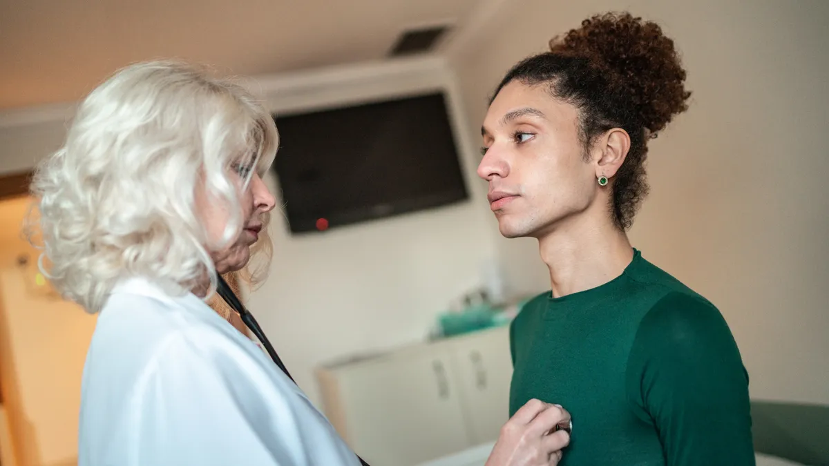
[[[453,343],[453,358],[473,444],[496,440],[509,419],[512,360],[508,328],[458,339]]]

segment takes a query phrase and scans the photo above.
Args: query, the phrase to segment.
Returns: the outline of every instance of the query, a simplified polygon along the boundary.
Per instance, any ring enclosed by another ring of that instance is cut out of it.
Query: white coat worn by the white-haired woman
[[[357,466],[274,362],[193,294],[128,279],[98,319],[79,466]]]

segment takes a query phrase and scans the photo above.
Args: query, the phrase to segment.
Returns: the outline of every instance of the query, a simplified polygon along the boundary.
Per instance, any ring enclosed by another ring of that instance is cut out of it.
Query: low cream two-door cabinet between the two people
[[[329,420],[372,466],[410,466],[497,439],[508,418],[507,328],[318,371]]]

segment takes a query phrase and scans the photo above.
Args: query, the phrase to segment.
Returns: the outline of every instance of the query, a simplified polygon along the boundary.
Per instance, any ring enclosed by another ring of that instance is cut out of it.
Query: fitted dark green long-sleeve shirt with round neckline
[[[754,466],[728,325],[638,250],[607,284],[532,299],[510,333],[510,413],[532,398],[570,411],[562,466]]]

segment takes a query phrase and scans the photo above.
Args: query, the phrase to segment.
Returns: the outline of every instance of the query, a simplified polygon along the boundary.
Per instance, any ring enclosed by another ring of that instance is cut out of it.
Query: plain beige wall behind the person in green
[[[752,396],[829,403],[829,2],[505,3],[451,57],[471,137],[509,66],[624,8],[676,40],[694,92],[652,143],[634,244],[720,307]],[[549,289],[535,241],[497,248],[514,288]]]

